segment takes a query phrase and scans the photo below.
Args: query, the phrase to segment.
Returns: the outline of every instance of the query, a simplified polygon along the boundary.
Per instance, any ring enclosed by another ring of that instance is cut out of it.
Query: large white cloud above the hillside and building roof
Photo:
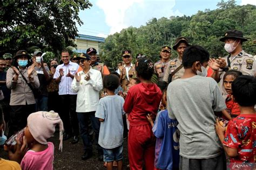
[[[175,0],[98,0],[96,5],[104,11],[110,34],[129,26],[145,25],[153,17],[183,16],[178,10],[172,10]]]

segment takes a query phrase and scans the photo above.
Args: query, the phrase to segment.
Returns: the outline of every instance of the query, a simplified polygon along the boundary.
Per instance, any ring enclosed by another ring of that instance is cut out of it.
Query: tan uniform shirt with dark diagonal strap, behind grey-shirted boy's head
[[[173,59],[169,62],[169,65],[167,66],[166,70],[165,70],[165,74],[164,74],[164,79],[163,81],[168,82],[169,79],[169,75],[174,72],[174,70],[176,70],[180,65],[182,64],[182,61],[179,60],[179,58]],[[175,73],[172,76],[172,81],[176,80],[176,79],[180,79],[180,77],[183,76],[184,74],[184,67],[182,67],[180,70],[178,70],[177,73]]]

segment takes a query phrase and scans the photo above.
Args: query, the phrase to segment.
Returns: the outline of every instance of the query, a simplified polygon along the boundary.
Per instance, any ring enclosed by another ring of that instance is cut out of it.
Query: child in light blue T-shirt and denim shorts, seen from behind
[[[117,75],[105,75],[103,87],[107,93],[106,97],[100,98],[95,117],[99,118],[99,140],[103,147],[104,161],[107,169],[112,169],[113,161],[117,161],[117,168],[123,167],[123,110],[124,98],[114,94],[119,86]]]

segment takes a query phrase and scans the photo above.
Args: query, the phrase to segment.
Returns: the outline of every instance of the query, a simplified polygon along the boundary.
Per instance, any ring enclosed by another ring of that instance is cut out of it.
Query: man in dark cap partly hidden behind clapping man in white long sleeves
[[[109,75],[109,68],[104,65],[104,63],[100,63],[97,61],[97,50],[95,48],[88,48],[86,50],[86,54],[91,56],[91,66],[93,69],[99,70],[102,75]]]

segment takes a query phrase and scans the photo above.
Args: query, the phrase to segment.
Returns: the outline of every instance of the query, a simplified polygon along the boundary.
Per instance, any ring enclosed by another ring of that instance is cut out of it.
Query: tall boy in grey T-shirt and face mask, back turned
[[[226,108],[218,84],[207,75],[209,53],[201,46],[187,47],[181,79],[167,89],[169,117],[180,130],[180,169],[225,169],[225,155],[215,133],[214,112]]]

